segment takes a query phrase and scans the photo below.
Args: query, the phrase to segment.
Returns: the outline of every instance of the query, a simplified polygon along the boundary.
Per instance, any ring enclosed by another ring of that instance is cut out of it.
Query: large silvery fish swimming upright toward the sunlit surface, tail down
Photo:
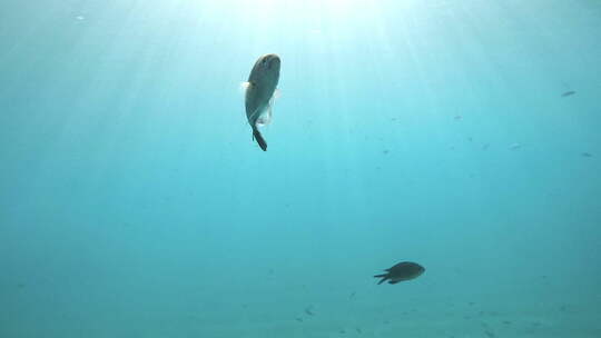
[[[272,121],[272,107],[279,81],[282,61],[277,54],[265,54],[255,62],[245,88],[246,118],[253,128],[253,140],[263,151],[267,151],[267,142],[258,130],[260,126]]]

